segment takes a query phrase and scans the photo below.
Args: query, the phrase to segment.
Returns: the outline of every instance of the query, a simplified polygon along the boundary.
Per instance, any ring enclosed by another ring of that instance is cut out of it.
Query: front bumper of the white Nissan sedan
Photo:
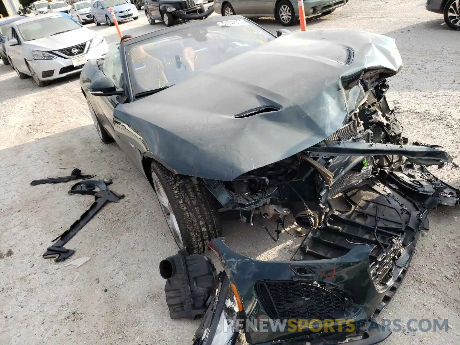
[[[52,60],[29,60],[29,64],[34,69],[38,78],[42,81],[54,80],[67,75],[80,73],[81,69],[89,59],[100,58],[109,50],[107,42],[103,40],[95,47],[90,47],[88,52],[77,57],[85,57],[85,62],[74,66],[72,58],[56,57]]]

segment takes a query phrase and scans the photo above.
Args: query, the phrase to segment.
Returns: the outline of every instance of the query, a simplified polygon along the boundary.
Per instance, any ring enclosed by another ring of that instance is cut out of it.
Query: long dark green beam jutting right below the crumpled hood
[[[409,161],[418,165],[443,167],[445,164],[452,163],[457,166],[446,151],[426,146],[323,140],[310,147],[308,152],[333,156],[397,155],[407,157]]]

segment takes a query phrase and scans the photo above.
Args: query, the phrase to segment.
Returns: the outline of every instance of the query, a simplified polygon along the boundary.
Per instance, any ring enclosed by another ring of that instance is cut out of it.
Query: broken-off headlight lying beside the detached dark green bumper
[[[233,343],[240,330],[238,316],[242,309],[234,289],[236,289],[235,286],[230,284],[228,276],[223,273],[218,294],[209,306],[200,328],[193,337],[194,342],[203,345],[230,345]],[[216,324],[216,322],[218,323]]]

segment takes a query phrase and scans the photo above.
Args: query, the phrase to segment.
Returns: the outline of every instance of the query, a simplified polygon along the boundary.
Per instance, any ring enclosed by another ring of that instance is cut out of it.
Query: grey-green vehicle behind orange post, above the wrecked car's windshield
[[[345,6],[348,0],[304,0],[305,15],[327,15]],[[290,26],[299,18],[297,0],[214,0],[214,11],[222,16],[239,14],[244,17],[275,17],[282,25]]]

